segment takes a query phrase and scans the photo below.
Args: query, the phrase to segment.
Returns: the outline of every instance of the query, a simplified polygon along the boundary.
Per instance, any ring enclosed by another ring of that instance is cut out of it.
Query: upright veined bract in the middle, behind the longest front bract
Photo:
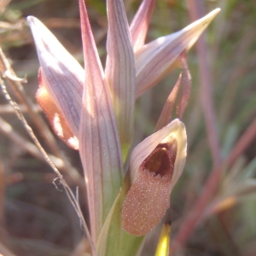
[[[135,60],[122,0],[108,0],[106,81],[111,90],[125,162],[134,133]]]

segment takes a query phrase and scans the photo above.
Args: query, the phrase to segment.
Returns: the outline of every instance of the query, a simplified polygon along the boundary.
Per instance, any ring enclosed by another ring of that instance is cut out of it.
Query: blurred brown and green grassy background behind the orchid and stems
[[[130,22],[139,4],[137,0],[125,1]],[[198,4],[204,6],[205,14],[217,7],[222,9],[207,28],[206,42],[207,63],[212,76],[212,82],[209,83],[216,115],[212,129],[218,135],[219,154],[224,160],[256,117],[256,3],[253,0],[198,0]],[[108,29],[105,1],[89,0],[86,5],[104,65]],[[36,104],[39,64],[31,32],[26,26],[27,15],[42,20],[84,65],[78,1],[14,0],[2,9],[0,45],[17,76],[23,78],[27,75],[28,82],[23,87],[26,96]],[[190,22],[186,1],[157,0],[147,42],[176,32]],[[189,51],[188,62],[192,74],[192,95],[183,119],[189,139],[188,159],[183,176],[172,194],[172,236],[175,236],[183,224],[183,218],[201,195],[214,165],[203,114],[201,71],[195,47]],[[179,73],[180,70],[170,73],[137,101],[135,143],[154,131],[161,108]],[[14,96],[12,90],[9,92]],[[24,113],[28,123],[35,128],[30,117]],[[40,110],[38,114],[45,119]],[[11,125],[15,135],[26,142],[30,141],[1,93],[0,117]],[[3,120],[0,122],[2,126],[6,125]],[[49,150],[36,128],[35,132],[46,150]],[[61,154],[66,155],[65,159],[83,175],[78,152],[67,148],[57,138],[56,143]],[[210,213],[177,255],[256,254],[255,152],[254,138],[232,165],[223,168],[218,191],[207,207]],[[84,255],[83,248],[79,247],[84,234],[79,218],[65,193],[52,184],[55,174],[43,160],[35,158],[27,152],[26,147],[15,143],[14,133],[0,132],[0,172],[0,253],[3,253],[4,247],[8,247],[15,255]],[[74,190],[79,185],[66,172],[65,178]],[[83,189],[80,189],[79,197],[86,218],[86,199],[81,191]],[[227,198],[231,198],[233,203],[219,207],[219,203]],[[213,211],[214,207],[217,210]],[[154,255],[158,235],[157,228],[148,236],[143,255]]]

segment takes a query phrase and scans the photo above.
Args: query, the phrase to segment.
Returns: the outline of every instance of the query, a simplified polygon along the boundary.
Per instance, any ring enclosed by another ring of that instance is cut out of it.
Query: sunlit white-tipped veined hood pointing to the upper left
[[[73,135],[79,137],[84,69],[40,20],[28,16],[27,22],[38,50],[44,86]]]

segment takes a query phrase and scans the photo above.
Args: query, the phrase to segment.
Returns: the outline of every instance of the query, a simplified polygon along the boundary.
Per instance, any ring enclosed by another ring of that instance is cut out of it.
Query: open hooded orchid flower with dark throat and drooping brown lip
[[[135,236],[152,230],[170,207],[170,195],[183,172],[187,137],[173,120],[139,143],[131,153],[131,189],[122,211],[123,228]]]

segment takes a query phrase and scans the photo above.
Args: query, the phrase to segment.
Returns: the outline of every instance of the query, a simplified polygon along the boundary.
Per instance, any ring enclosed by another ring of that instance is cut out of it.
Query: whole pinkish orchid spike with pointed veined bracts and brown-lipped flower
[[[172,188],[186,158],[186,132],[179,119],[133,149],[132,185],[122,207],[124,162],[134,133],[135,101],[175,67],[179,55],[195,44],[219,11],[213,10],[183,30],[145,44],[154,3],[143,0],[129,26],[123,1],[107,0],[105,70],[83,0],[79,0],[79,9],[84,68],[41,21],[27,18],[41,66],[37,100],[56,134],[79,150],[88,192],[90,232],[98,255],[125,255],[117,254],[120,248],[111,247],[113,241],[108,239],[113,234],[115,239],[123,239],[125,235],[118,235],[126,234],[122,226],[134,236],[145,235],[170,205]],[[133,242],[131,237],[120,243],[128,247],[129,241]]]

